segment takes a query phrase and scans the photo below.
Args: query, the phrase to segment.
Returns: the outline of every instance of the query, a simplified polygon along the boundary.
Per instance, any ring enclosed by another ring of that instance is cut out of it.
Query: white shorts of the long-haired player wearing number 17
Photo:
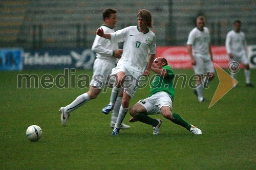
[[[139,85],[139,81],[137,79],[141,76],[141,74],[138,74],[138,72],[127,68],[123,64],[117,64],[117,67],[112,69],[111,76],[116,75],[120,71],[125,72],[125,81],[122,86],[124,92],[126,92],[128,95],[131,96],[131,98],[133,98]]]

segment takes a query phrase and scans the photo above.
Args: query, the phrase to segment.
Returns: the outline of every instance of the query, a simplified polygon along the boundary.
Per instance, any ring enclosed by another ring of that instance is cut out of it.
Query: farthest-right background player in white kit
[[[250,82],[250,67],[247,58],[245,35],[241,31],[241,21],[234,21],[234,30],[227,33],[226,36],[226,50],[229,56],[229,61],[236,61],[242,63],[244,66],[244,75],[247,87],[253,87]],[[237,79],[237,74],[231,73],[234,79]]]

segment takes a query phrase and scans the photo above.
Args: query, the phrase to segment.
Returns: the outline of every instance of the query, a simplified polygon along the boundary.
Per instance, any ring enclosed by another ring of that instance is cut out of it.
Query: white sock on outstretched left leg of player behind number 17
[[[65,107],[65,112],[69,113],[82,106],[84,103],[87,103],[88,101],[90,101],[89,95],[87,93],[83,93],[79,95],[71,104]]]

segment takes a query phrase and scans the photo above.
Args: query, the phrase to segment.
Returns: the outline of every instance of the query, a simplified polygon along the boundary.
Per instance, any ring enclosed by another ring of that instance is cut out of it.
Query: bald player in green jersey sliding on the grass
[[[151,69],[157,74],[151,87],[150,95],[146,99],[140,100],[131,109],[130,114],[133,116],[130,122],[142,122],[153,126],[153,134],[159,134],[159,128],[162,120],[154,119],[148,115],[159,114],[180,125],[195,135],[202,134],[197,127],[188,124],[179,114],[172,113],[172,102],[174,100],[175,88],[173,79],[175,77],[173,69],[167,64],[166,59],[156,58]]]

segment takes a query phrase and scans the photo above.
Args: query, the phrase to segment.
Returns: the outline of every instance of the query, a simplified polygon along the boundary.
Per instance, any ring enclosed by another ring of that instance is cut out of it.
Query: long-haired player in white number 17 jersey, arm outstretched
[[[149,29],[152,28],[151,13],[141,9],[137,17],[138,26],[127,27],[109,34],[105,34],[100,28],[96,31],[97,35],[110,39],[111,42],[124,41],[122,58],[118,61],[116,68],[112,69],[112,74],[116,75],[117,80],[112,89],[110,104],[102,109],[105,114],[113,110],[117,94],[123,87],[122,105],[112,135],[119,134],[120,125],[129,109],[130,100],[137,90],[138,80],[143,74],[150,75],[151,66],[155,59],[156,37]],[[125,81],[125,78],[133,78],[133,81]]]

